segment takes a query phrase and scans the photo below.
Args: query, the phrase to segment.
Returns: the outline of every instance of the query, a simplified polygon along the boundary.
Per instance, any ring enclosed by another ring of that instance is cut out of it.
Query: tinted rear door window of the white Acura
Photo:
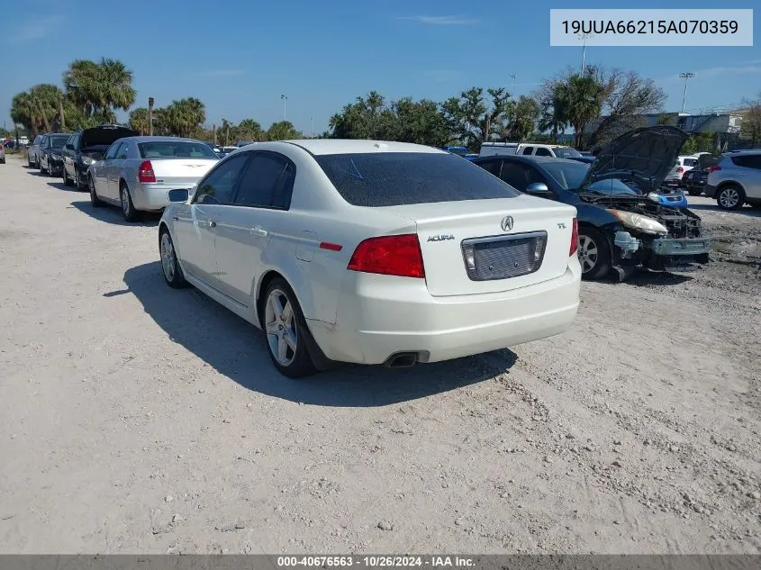
[[[257,152],[240,179],[233,204],[259,208],[287,208],[291,203],[295,168],[274,152]]]

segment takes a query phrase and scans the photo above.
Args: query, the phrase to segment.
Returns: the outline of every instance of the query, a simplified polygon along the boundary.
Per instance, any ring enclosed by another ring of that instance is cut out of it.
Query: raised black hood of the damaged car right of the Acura
[[[688,134],[670,125],[625,132],[600,149],[581,188],[610,178],[630,180],[648,193],[657,190],[674,167]]]

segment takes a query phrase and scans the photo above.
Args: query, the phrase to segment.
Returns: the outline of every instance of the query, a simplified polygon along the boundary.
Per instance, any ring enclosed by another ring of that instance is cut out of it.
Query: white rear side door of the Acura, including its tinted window
[[[240,178],[232,205],[217,221],[215,249],[222,293],[250,306],[261,260],[291,204],[295,166],[276,152],[258,151]],[[293,241],[290,241],[293,245]]]

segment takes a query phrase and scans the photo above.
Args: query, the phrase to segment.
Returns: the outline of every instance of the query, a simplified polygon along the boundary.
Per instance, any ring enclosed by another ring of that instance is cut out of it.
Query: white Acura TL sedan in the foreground
[[[170,199],[168,285],[265,330],[289,377],[506,348],[563,332],[578,309],[575,208],[439,149],[256,143]]]

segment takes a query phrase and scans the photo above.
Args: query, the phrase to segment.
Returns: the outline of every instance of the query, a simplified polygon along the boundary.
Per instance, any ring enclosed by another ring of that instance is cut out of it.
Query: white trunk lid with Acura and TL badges
[[[383,209],[415,223],[434,296],[510,291],[568,267],[573,206],[522,195]]]

